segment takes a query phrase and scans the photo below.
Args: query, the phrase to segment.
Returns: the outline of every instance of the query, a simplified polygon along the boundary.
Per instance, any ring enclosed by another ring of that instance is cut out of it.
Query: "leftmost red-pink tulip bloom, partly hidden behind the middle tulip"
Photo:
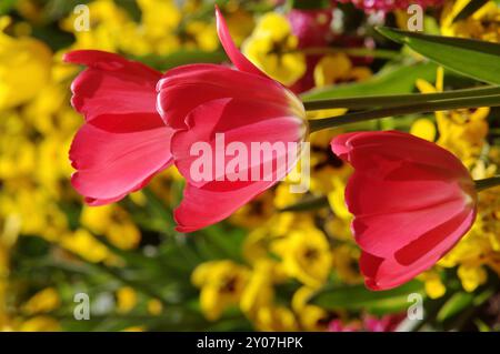
[[[91,205],[116,202],[172,163],[173,130],[156,110],[161,73],[97,50],[64,60],[88,67],[71,85],[72,105],[86,118],[70,150],[71,183]]]

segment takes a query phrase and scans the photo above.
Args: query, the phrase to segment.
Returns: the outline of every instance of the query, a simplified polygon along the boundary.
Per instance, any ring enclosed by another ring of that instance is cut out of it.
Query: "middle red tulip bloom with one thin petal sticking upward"
[[[179,172],[187,179],[183,200],[174,212],[178,230],[182,232],[226,219],[271,188],[293,168],[299,152],[287,150],[263,158],[272,160],[272,178],[269,179],[234,180],[228,174],[234,162],[227,161],[214,166],[211,180],[199,181],[192,175],[197,161],[192,148],[197,143],[203,142],[217,150],[217,136],[223,135],[228,146],[239,146],[239,153],[246,154],[243,160],[250,161],[247,153],[252,143],[289,146],[289,143],[300,144],[307,133],[301,101],[244,58],[218,9],[217,29],[234,69],[216,64],[179,67],[167,72],[158,84],[158,110],[166,124],[176,130],[171,152]],[[279,154],[288,155],[286,168],[280,165]],[[249,163],[240,165],[234,173],[241,175],[262,168],[263,162]]]

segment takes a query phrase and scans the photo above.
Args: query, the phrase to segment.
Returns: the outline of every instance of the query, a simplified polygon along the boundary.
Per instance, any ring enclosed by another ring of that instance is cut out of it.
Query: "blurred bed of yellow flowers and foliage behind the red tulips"
[[[500,41],[487,1],[416,1],[427,33]],[[412,1],[217,1],[243,53],[302,99],[467,88],[374,31],[406,29]],[[77,7],[86,4],[88,8]],[[500,328],[500,190],[480,195],[470,232],[432,270],[370,292],[358,270],[343,190],[351,169],[331,154],[340,130],[311,135],[311,189],[283,181],[227,221],[181,234],[174,168],[119,203],[89,208],[70,185],[74,49],[100,49],[159,70],[226,62],[214,1],[2,0],[0,3],[0,330],[418,331]],[[89,28],[82,29],[88,9]],[[341,114],[314,112],[310,119]],[[391,118],[356,129],[398,129],[454,153],[474,179],[498,173],[499,110]],[[210,205],[207,205],[210,208]],[[396,236],[396,235],[394,235]],[[74,295],[90,299],[77,321]],[[421,295],[422,321],[407,318]]]

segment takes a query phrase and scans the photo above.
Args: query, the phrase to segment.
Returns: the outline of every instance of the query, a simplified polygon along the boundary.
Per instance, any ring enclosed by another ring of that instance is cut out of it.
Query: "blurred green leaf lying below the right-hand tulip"
[[[364,310],[373,314],[386,314],[404,311],[412,302],[408,295],[423,295],[423,285],[412,281],[397,289],[372,292],[364,285],[333,286],[324,289],[312,296],[310,303],[328,310]]]

